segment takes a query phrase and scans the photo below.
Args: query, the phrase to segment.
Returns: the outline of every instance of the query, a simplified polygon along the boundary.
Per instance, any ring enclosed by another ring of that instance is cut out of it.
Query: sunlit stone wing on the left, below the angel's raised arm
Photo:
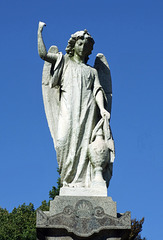
[[[63,68],[63,55],[58,52],[58,48],[56,46],[51,46],[48,53],[49,52],[55,54],[57,53],[58,59],[55,65],[46,61],[44,63],[42,72],[42,94],[46,118],[55,146],[60,102],[59,81]]]

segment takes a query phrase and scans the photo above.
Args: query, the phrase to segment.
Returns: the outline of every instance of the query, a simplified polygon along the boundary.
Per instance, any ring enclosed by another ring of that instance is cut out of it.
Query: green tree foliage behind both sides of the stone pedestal
[[[51,199],[59,194],[61,187],[60,178],[57,181],[57,187],[52,187],[49,191],[49,201],[42,201],[39,209],[42,211],[49,210]],[[141,238],[140,232],[144,218],[140,221],[133,219],[129,240],[146,240]],[[36,210],[32,203],[25,203],[18,208],[14,208],[11,213],[6,209],[0,208],[0,240],[36,240]]]

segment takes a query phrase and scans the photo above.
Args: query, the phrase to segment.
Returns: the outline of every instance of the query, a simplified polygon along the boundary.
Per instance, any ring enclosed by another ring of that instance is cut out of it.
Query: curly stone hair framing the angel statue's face
[[[92,53],[93,45],[95,42],[94,42],[92,36],[88,33],[88,31],[86,29],[84,31],[77,31],[76,33],[71,35],[71,38],[69,39],[68,45],[66,47],[66,52],[69,55],[69,57],[74,56],[74,46],[78,39],[86,39],[89,43],[89,44],[87,44],[88,51],[87,51],[87,55],[85,56],[85,63],[87,63],[87,61],[89,59],[88,56]]]

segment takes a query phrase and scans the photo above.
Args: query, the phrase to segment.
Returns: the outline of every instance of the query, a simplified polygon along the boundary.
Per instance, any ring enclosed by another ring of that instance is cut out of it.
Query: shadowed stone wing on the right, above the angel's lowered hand
[[[109,64],[102,53],[98,53],[95,59],[94,68],[98,72],[101,86],[106,94],[107,103],[106,110],[111,114],[112,105],[112,81]]]

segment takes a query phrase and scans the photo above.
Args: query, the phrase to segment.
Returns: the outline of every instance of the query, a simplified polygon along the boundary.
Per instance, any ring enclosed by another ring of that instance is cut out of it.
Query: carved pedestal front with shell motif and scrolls
[[[62,236],[62,229],[65,229],[67,236],[71,239],[96,239],[105,230],[106,236],[111,236],[111,233],[112,236],[121,234],[121,239],[125,239],[126,232],[129,233],[131,228],[131,216],[130,212],[126,212],[119,217],[113,217],[106,214],[101,206],[93,207],[90,200],[82,199],[77,200],[74,206],[65,206],[58,214],[47,216],[46,213],[38,210],[37,229],[44,232],[45,228],[47,236],[51,236],[52,229],[60,229],[60,236]],[[57,234],[53,236],[57,237]]]

